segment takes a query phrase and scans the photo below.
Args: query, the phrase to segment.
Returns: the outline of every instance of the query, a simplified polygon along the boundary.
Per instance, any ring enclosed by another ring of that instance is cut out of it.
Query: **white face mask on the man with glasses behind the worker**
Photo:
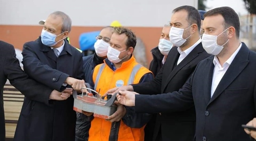
[[[101,40],[98,39],[98,40],[94,43],[95,53],[96,53],[98,56],[100,56],[100,57],[107,56],[108,46],[109,46],[109,43],[103,41],[102,39],[101,39]]]

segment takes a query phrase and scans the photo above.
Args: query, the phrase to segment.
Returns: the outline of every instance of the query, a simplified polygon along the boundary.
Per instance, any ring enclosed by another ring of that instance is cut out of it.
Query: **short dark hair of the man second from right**
[[[201,27],[201,18],[198,10],[193,6],[184,5],[184,6],[175,8],[173,10],[173,13],[182,11],[182,10],[187,11],[187,22],[189,22],[189,24],[197,24],[197,28],[199,32]]]

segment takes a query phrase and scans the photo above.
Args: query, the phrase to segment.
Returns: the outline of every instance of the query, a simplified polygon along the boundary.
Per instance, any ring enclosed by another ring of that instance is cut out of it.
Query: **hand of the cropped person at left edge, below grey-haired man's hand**
[[[59,92],[57,90],[53,90],[49,96],[49,99],[52,100],[66,100],[67,98],[70,97],[70,95],[72,95],[72,88],[66,88],[65,90],[63,90],[63,92]]]

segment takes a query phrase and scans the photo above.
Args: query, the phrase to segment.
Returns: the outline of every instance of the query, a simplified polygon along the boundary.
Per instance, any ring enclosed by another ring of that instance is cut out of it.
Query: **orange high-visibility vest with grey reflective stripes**
[[[137,84],[144,74],[150,71],[137,63],[134,56],[122,63],[121,68],[113,71],[106,64],[97,65],[93,71],[93,82],[95,90],[103,95],[107,90],[123,85]],[[152,72],[151,72],[152,73]],[[144,126],[145,127],[145,126]],[[144,141],[144,127],[130,128],[122,120],[118,132],[118,141]],[[111,122],[98,117],[91,121],[89,130],[89,141],[108,141],[111,129]]]

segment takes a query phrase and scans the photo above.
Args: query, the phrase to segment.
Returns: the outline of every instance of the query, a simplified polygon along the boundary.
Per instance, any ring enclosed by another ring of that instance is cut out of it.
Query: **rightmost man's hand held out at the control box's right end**
[[[135,106],[135,94],[138,94],[136,92],[130,92],[130,91],[119,91],[119,94],[117,94],[117,100],[122,105],[126,106]]]

